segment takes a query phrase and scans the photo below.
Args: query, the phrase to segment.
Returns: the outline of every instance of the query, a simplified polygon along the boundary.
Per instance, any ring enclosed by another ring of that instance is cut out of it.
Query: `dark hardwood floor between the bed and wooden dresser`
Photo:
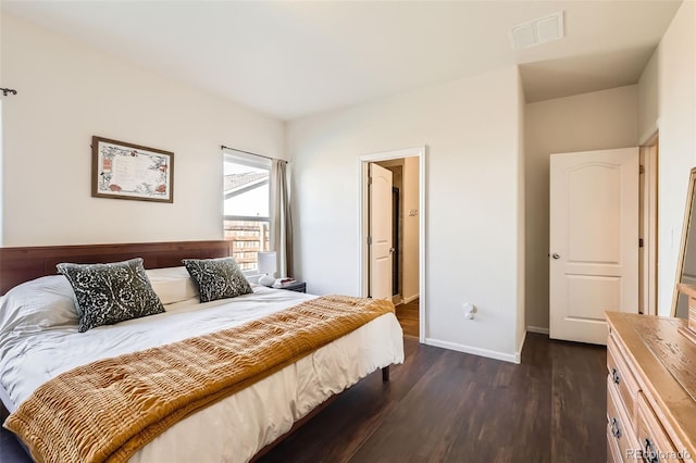
[[[605,462],[606,349],[529,334],[522,364],[419,345],[260,462]],[[25,462],[2,431],[0,460]],[[9,443],[10,442],[10,443]]]

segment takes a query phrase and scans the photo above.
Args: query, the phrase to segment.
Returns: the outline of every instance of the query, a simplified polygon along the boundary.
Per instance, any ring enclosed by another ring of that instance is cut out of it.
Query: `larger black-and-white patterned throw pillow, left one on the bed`
[[[110,264],[61,263],[55,267],[75,291],[79,333],[164,312],[140,258]]]

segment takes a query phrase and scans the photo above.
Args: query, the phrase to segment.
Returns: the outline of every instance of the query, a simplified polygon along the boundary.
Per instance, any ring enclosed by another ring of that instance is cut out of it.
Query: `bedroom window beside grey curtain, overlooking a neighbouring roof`
[[[258,268],[257,253],[270,246],[271,160],[241,151],[224,152],[224,230],[244,271]]]

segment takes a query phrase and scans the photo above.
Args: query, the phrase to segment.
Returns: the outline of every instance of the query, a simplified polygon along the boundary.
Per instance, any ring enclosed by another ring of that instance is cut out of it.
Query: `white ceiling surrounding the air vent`
[[[693,0],[686,0],[693,1]],[[635,84],[681,0],[9,1],[11,13],[283,120],[520,64],[527,102]],[[510,29],[564,12],[566,38]]]

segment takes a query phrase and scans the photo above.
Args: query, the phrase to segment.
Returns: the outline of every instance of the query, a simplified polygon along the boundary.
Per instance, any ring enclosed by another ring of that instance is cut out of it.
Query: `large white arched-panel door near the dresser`
[[[551,154],[549,193],[550,337],[606,345],[638,308],[638,149]]]

